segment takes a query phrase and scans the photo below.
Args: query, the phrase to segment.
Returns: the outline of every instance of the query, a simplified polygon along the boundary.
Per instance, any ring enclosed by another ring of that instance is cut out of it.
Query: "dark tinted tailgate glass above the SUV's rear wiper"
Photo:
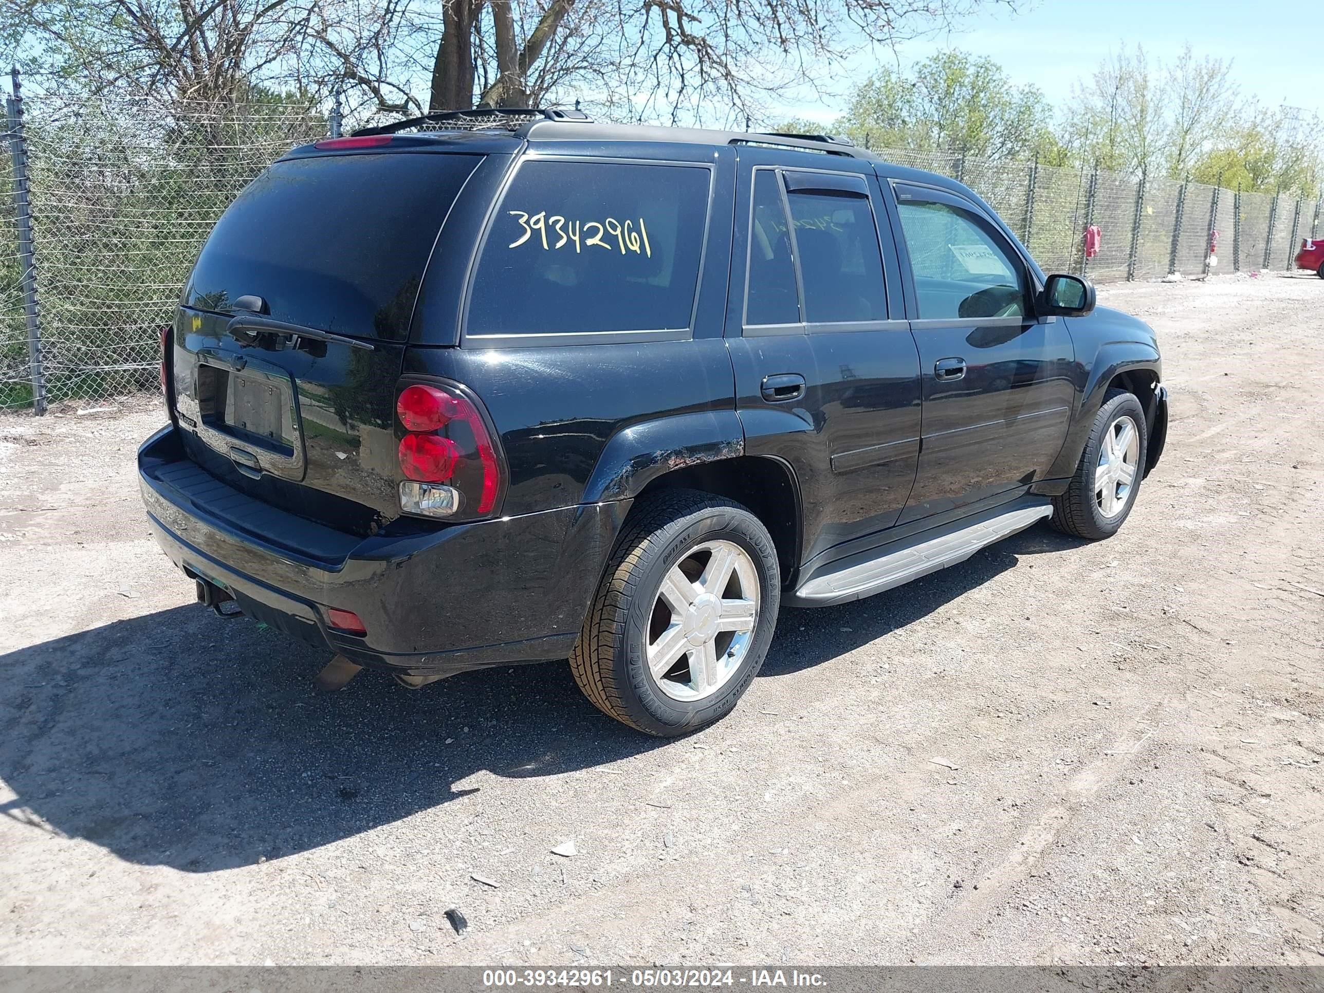
[[[185,301],[228,312],[402,340],[446,212],[481,156],[327,155],[273,164],[230,204]]]

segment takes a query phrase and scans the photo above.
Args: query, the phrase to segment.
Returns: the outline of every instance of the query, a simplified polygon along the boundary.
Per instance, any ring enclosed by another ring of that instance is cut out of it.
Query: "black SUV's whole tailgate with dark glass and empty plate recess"
[[[195,461],[342,527],[399,514],[395,384],[414,299],[482,162],[302,154],[234,200],[175,322],[172,402]]]

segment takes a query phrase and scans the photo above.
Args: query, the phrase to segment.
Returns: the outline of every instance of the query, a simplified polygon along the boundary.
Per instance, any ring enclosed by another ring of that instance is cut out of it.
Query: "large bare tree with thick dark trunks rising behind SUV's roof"
[[[575,89],[614,118],[739,119],[761,97],[817,83],[826,58],[992,4],[1013,0],[440,0],[426,103],[516,106]],[[395,89],[412,71],[401,64]],[[376,79],[356,65],[352,85],[355,73]]]

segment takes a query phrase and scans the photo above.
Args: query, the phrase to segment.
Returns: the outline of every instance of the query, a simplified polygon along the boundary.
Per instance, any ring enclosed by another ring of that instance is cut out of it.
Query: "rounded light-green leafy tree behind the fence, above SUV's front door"
[[[835,128],[875,148],[1031,158],[1059,148],[1053,107],[1035,86],[1014,86],[993,60],[940,52],[910,70],[884,68],[851,95]]]

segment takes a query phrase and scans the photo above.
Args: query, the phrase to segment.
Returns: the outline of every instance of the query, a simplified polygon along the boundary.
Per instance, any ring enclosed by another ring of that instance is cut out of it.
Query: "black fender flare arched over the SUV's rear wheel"
[[[743,454],[744,429],[733,409],[699,410],[632,424],[606,442],[584,486],[581,502],[633,499],[650,482],[675,469]]]

